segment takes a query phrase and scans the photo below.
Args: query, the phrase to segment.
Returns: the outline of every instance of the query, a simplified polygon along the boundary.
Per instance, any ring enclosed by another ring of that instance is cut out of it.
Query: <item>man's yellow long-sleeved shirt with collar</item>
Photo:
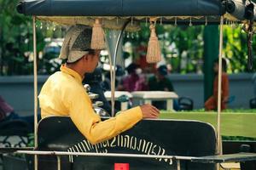
[[[101,122],[84,90],[82,77],[64,65],[44,83],[38,98],[42,118],[70,116],[91,144],[111,139],[143,118],[140,107],[135,107]]]

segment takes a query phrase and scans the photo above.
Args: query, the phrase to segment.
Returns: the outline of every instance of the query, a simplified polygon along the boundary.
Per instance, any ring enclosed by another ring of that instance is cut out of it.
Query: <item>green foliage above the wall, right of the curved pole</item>
[[[147,45],[150,31],[146,24],[141,26],[142,30],[139,31],[139,38],[125,37],[125,42],[131,42],[135,47],[141,44]],[[157,25],[156,31],[162,54],[166,59],[166,64],[172,65],[172,72],[202,72],[204,26]],[[253,40],[255,40],[255,37],[253,37]],[[256,47],[255,41],[253,41],[253,47]],[[253,48],[253,52],[256,54],[256,48]],[[228,59],[229,73],[248,71],[247,34],[241,30],[241,26],[224,26],[223,54],[224,58]],[[133,59],[137,59],[139,54],[134,53],[132,56]],[[256,59],[253,61],[253,71],[255,71],[255,65]]]

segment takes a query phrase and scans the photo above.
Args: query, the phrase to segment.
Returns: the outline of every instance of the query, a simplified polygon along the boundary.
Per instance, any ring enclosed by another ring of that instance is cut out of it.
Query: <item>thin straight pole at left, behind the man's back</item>
[[[38,147],[38,57],[37,57],[37,30],[36,17],[33,16],[33,51],[34,51],[34,148]],[[35,170],[38,170],[38,156],[35,155],[34,161]]]

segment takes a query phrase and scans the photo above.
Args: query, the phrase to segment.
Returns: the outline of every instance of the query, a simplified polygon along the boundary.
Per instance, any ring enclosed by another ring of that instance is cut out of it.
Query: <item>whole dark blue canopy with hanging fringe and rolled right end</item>
[[[256,20],[254,6],[245,0],[22,0],[17,10],[49,21],[59,17],[142,20],[157,16],[169,23],[172,17],[181,22],[190,17],[197,24],[204,23],[203,17],[209,17],[212,20],[208,23],[215,24],[222,15],[225,20]]]

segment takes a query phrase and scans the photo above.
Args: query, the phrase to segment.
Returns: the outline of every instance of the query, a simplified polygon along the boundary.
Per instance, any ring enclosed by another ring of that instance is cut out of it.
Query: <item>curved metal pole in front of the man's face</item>
[[[113,68],[110,61],[110,76],[111,76],[111,116],[114,116],[114,91],[115,91],[115,68],[116,68],[116,57],[118,54],[119,43],[123,33],[125,31],[126,26],[131,22],[131,20],[127,20],[122,27],[122,30],[119,33],[118,40],[115,45],[114,54],[113,54]]]

